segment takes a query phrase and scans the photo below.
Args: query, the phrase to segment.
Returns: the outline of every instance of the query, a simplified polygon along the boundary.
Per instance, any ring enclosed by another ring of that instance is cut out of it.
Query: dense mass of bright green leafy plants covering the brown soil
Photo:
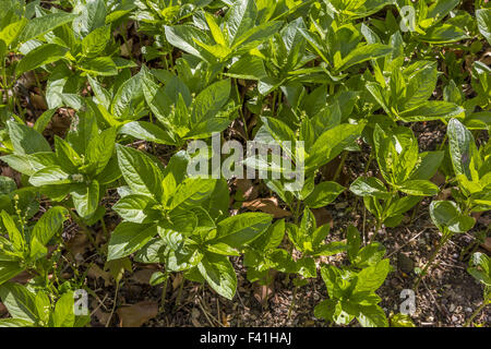
[[[406,5],[415,9],[409,20],[399,12]],[[148,38],[139,57],[129,24]],[[64,279],[60,268],[68,220],[119,273],[118,286],[131,257],[163,266],[153,286],[165,290],[169,275],[181,273],[232,299],[230,261],[243,256],[251,282],[267,285],[275,270],[297,290],[318,277],[321,260],[346,254],[347,263],[320,266],[328,298],[315,316],[388,326],[375,291],[393,268],[376,232],[431,201],[441,241],[418,285],[440,249],[491,207],[491,70],[478,60],[490,45],[491,8],[482,0],[3,1],[0,152],[22,177],[20,188],[0,177],[0,299],[11,315],[0,326],[88,323],[73,313],[85,274]],[[20,93],[27,74],[47,106],[34,120]],[[70,129],[49,135],[61,109],[74,111]],[[446,134],[436,149],[420,152],[414,130],[427,123]],[[187,174],[190,141],[212,146],[216,132],[275,141],[304,158],[301,190],[262,180],[290,217],[230,215],[225,179]],[[364,176],[342,185],[346,160],[368,148]],[[431,181],[436,172],[444,183]],[[452,198],[438,200],[444,189]],[[117,202],[105,204],[116,192]],[[331,227],[318,225],[313,209],[342,194],[372,215],[372,241],[351,225],[345,240],[326,242]],[[109,210],[120,217],[113,231],[106,231]],[[95,226],[107,244],[96,244]],[[483,306],[489,269],[489,257],[474,254],[469,273],[486,287]],[[27,285],[12,281],[25,272]],[[397,324],[410,322],[398,316]]]

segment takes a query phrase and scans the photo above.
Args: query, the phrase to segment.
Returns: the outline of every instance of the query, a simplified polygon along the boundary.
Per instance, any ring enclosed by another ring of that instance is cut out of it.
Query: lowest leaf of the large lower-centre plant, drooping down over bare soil
[[[233,298],[237,289],[237,275],[225,255],[205,254],[197,264],[197,269],[218,294],[230,300]]]

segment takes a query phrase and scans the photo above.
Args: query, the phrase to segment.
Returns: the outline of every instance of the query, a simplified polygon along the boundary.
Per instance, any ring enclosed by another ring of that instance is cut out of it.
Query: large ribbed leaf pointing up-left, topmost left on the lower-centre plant
[[[122,177],[133,192],[158,201],[163,193],[163,174],[154,161],[142,152],[119,144],[116,152]]]

